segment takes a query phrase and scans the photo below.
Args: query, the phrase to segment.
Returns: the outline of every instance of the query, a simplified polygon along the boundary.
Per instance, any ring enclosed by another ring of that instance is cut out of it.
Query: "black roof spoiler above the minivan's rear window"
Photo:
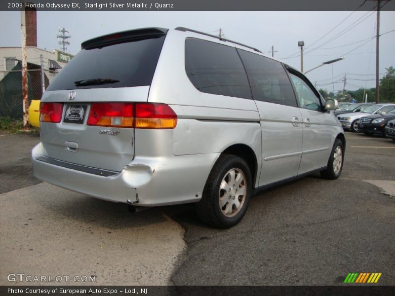
[[[166,35],[167,31],[168,29],[163,28],[143,28],[112,33],[82,42],[81,49],[97,48],[134,39],[144,39],[147,37],[160,37]]]

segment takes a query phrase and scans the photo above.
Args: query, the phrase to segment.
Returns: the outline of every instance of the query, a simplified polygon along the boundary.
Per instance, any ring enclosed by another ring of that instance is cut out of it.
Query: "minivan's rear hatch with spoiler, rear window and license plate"
[[[81,44],[41,98],[44,156],[116,172],[133,160],[134,103],[148,101],[166,33],[139,29]]]

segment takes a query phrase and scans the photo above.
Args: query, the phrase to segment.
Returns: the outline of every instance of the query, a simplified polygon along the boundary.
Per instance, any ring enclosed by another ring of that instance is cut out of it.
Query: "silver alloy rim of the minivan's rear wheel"
[[[225,217],[234,217],[244,205],[246,180],[240,169],[230,169],[222,179],[219,189],[219,207]]]

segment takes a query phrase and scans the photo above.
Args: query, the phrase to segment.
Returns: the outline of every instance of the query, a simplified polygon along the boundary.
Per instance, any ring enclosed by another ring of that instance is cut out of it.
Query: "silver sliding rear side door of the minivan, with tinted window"
[[[262,133],[259,186],[298,174],[302,155],[302,114],[281,63],[237,49],[257,105]]]

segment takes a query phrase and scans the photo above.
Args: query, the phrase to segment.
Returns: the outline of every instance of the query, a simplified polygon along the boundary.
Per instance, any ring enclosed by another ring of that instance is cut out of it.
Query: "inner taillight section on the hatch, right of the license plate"
[[[92,103],[88,125],[133,127],[133,103]]]

